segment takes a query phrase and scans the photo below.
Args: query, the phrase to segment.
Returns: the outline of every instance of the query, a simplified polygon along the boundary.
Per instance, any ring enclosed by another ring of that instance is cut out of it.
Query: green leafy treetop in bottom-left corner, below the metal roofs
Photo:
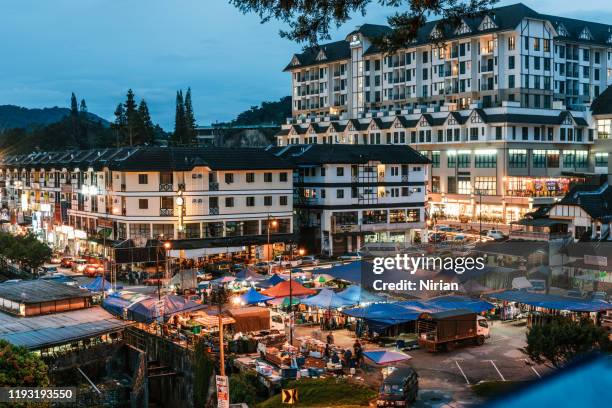
[[[0,387],[48,387],[47,366],[25,347],[0,340]]]

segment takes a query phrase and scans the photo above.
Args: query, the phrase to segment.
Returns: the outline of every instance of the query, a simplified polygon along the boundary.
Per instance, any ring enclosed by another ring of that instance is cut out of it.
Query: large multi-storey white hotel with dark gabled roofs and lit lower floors
[[[411,146],[432,161],[438,220],[510,223],[607,173],[608,152],[592,147],[610,129],[589,106],[612,83],[612,26],[519,3],[443,36],[429,22],[385,55],[372,38],[388,30],[365,24],[291,58],[279,146]]]

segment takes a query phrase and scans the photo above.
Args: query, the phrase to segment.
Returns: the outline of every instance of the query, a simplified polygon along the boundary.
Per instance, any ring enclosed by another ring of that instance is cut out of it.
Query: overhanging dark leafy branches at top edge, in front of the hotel
[[[366,14],[373,0],[230,0],[243,13],[255,13],[262,22],[275,19],[289,26],[282,37],[317,44],[330,39],[330,31],[351,19]],[[378,0],[393,9],[387,18],[392,31],[382,33],[373,43],[386,52],[406,47],[417,38],[430,16],[439,17],[438,29],[444,35],[460,26],[462,18],[484,14],[497,0]]]

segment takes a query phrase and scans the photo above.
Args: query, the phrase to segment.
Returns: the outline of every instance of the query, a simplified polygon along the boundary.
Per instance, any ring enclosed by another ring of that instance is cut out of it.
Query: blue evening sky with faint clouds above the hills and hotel
[[[377,5],[340,27],[386,22]],[[502,1],[511,4],[515,1]],[[612,23],[609,0],[527,0],[536,11]],[[191,86],[200,124],[232,119],[290,93],[282,68],[301,45],[227,0],[19,0],[0,2],[0,105],[67,106],[70,92],[112,120],[128,88],[153,120],[174,121],[177,89]]]

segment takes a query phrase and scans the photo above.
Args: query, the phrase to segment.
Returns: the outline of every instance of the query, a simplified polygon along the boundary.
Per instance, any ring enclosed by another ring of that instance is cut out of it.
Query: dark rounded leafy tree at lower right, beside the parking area
[[[612,351],[606,331],[592,320],[578,321],[554,316],[549,323],[532,326],[527,332],[525,353],[535,362],[560,367],[592,350]]]

